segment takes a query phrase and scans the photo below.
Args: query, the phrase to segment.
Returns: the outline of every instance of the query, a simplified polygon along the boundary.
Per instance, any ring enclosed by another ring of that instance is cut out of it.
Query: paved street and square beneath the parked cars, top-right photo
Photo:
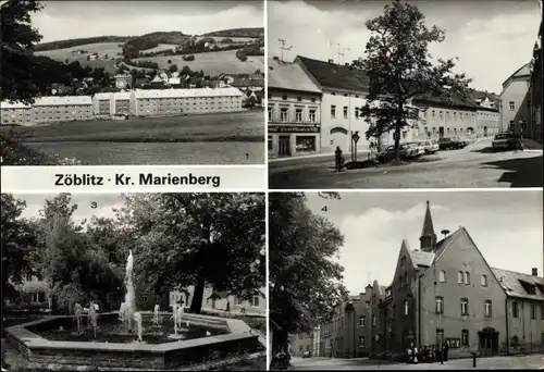
[[[362,157],[361,157],[362,158]],[[333,156],[269,163],[271,189],[542,187],[542,147],[491,151],[486,138],[462,150],[440,151],[404,165],[334,172]]]

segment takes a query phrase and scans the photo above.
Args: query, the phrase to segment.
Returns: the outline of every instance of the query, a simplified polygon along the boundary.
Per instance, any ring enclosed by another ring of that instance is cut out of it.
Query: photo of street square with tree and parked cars
[[[271,189],[542,187],[542,1],[268,1]]]

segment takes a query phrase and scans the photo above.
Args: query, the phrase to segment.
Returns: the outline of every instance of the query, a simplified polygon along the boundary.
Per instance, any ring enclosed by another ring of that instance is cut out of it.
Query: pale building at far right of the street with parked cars
[[[500,92],[500,132],[521,133],[529,120],[528,94],[530,64],[518,69],[503,83]]]

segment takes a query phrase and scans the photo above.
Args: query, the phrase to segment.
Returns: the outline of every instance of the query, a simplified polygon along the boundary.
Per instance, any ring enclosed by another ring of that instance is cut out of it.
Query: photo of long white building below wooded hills
[[[264,2],[1,1],[3,165],[264,164]]]

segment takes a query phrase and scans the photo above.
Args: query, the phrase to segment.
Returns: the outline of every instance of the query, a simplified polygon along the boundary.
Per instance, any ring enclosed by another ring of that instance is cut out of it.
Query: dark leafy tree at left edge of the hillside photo
[[[0,9],[1,95],[8,101],[34,103],[38,87],[33,77],[32,52],[41,35],[30,25],[30,13],[41,10],[37,0],[9,0]]]

